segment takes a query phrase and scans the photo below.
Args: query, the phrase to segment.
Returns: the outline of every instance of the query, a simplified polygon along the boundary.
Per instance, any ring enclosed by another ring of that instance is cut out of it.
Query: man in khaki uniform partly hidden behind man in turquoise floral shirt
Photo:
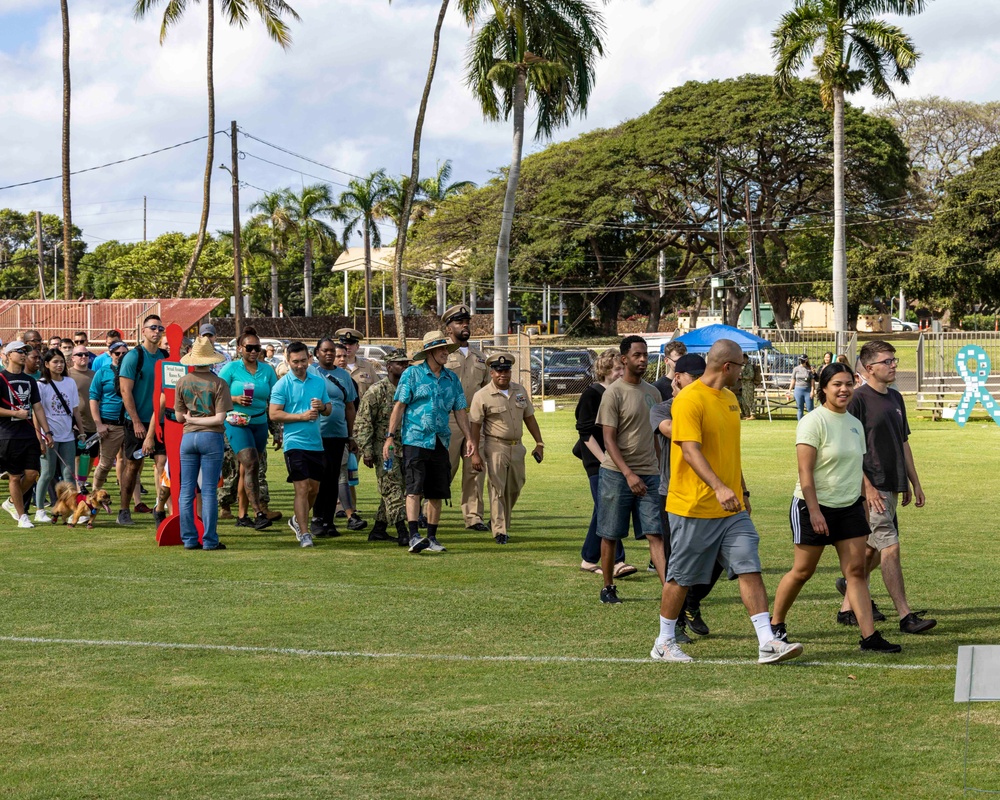
[[[462,390],[465,392],[465,402],[469,406],[472,405],[472,396],[490,381],[486,356],[478,347],[469,345],[469,337],[472,335],[472,328],[469,325],[471,320],[469,307],[461,304],[447,309],[441,317],[444,332],[458,345],[458,349],[448,356],[445,366],[458,375]],[[448,456],[451,459],[452,481],[458,474],[459,462],[462,465],[462,517],[465,519],[465,527],[473,531],[488,531],[489,526],[483,522],[485,473],[476,472],[472,466],[472,459],[462,456],[465,451],[465,439],[454,417],[450,418],[449,424],[451,444],[448,447]],[[477,442],[477,446],[480,444]]]

